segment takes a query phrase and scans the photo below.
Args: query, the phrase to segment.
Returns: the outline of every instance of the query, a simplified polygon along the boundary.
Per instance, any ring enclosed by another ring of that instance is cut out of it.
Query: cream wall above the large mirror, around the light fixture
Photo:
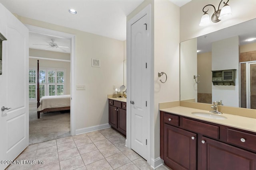
[[[199,26],[203,7],[212,4],[218,8],[219,3],[220,0],[192,0],[182,6],[180,8],[180,42],[256,18],[256,0],[230,0],[228,4],[232,10],[232,17],[229,20],[211,23],[205,27]],[[220,8],[222,6],[223,4]],[[211,6],[208,8],[208,14],[211,16],[214,8]]]

